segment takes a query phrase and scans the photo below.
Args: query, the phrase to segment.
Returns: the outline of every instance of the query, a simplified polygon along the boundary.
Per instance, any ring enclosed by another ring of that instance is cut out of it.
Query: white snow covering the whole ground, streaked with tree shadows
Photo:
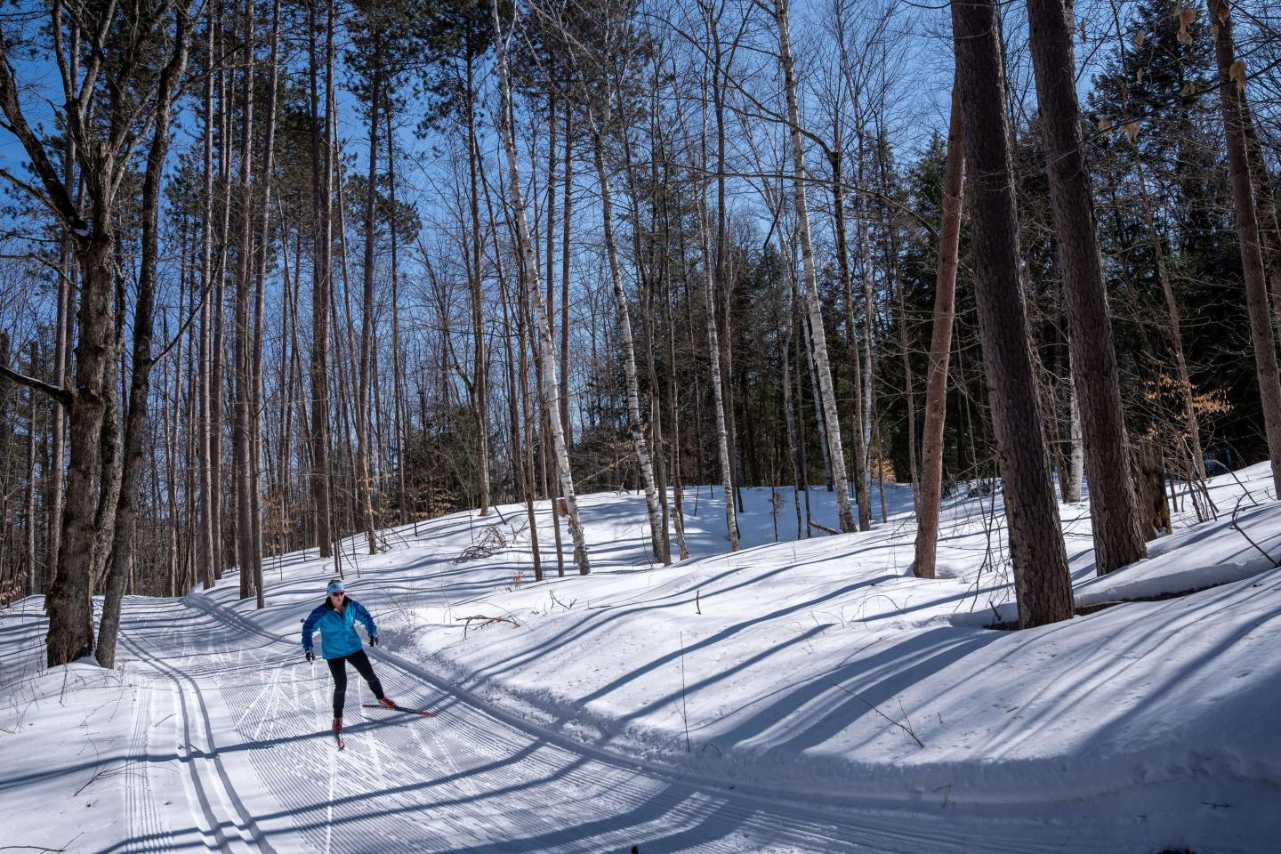
[[[0,812],[15,850],[1275,851],[1281,837],[1281,503],[1267,466],[1212,484],[1150,557],[1018,632],[999,497],[948,501],[939,579],[911,575],[911,494],[865,534],[796,539],[792,490],[684,497],[693,557],[647,562],[643,497],[585,495],[593,572],[544,581],[524,508],[384,533],[343,571],[387,691],[328,735],[298,621],[333,561],[266,562],[132,598],[122,667],[44,671],[40,602],[0,612]],[[880,495],[874,495],[879,510]],[[830,493],[810,495],[835,526]],[[776,508],[776,515],[775,515]],[[1235,520],[1234,520],[1235,511]],[[877,513],[879,519],[879,513]],[[1235,528],[1234,528],[1235,525]],[[1237,530],[1239,529],[1239,530]],[[503,545],[460,560],[478,543]],[[566,535],[567,539],[567,535]],[[1253,540],[1253,542],[1252,542]],[[675,548],[675,545],[673,545]],[[1264,552],[1267,554],[1264,554]],[[1193,593],[1187,593],[1193,592]],[[1185,595],[1172,595],[1185,594]],[[395,720],[400,718],[400,720]]]

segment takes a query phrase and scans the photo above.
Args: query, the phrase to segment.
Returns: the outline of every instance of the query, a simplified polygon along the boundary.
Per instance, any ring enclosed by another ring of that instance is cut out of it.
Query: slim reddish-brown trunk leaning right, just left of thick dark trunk
[[[957,311],[957,256],[961,247],[961,193],[965,146],[961,141],[961,90],[952,82],[952,118],[948,120],[948,160],[943,175],[943,227],[934,277],[934,329],[930,334],[930,369],[925,380],[925,424],[921,429],[921,490],[916,502],[916,560],[918,579],[935,577],[939,544],[939,504],[943,501],[943,426],[948,402],[948,357],[952,323]]]

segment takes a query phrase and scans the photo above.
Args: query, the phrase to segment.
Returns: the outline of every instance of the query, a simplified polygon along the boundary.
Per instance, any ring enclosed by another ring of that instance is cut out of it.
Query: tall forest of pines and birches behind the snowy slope
[[[940,499],[999,484],[1017,625],[1068,618],[1058,501],[1107,574],[1167,483],[1204,520],[1214,474],[1281,492],[1278,33],[1227,0],[6,4],[0,604],[111,667],[126,594],[240,567],[261,607],[273,556],[342,575],[511,503],[537,577],[587,575],[607,490],[671,563],[708,484],[730,549],[746,488],[821,538],[911,484],[933,577]]]

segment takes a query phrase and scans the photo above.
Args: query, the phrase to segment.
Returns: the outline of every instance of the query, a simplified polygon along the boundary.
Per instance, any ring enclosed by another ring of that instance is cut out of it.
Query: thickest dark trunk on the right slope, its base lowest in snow
[[[1018,277],[1006,74],[994,0],[953,0],[963,145],[974,191],[975,301],[1009,525],[1020,627],[1072,617]]]

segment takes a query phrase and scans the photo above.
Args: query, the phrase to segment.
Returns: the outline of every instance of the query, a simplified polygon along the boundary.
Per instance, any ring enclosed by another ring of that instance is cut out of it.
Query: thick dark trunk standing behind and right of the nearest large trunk
[[[1148,549],[1126,449],[1112,319],[1081,142],[1072,51],[1076,19],[1063,0],[1029,0],[1027,18],[1085,439],[1094,560],[1098,574],[1106,575],[1143,560]]]

